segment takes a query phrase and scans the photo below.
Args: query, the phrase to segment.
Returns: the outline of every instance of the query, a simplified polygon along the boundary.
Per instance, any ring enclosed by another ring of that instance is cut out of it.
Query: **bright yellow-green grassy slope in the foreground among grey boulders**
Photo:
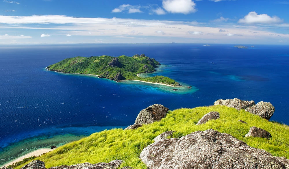
[[[211,111],[219,112],[220,119],[211,120],[203,125],[195,125],[204,114]],[[238,122],[239,119],[248,124]],[[245,138],[245,134],[252,126],[269,131],[272,138],[269,140]],[[112,129],[94,133],[87,138],[68,143],[53,152],[37,157],[37,159],[44,161],[47,168],[84,162],[95,164],[121,159],[125,161],[122,166],[145,169],[146,166],[140,161],[139,154],[144,147],[153,143],[153,139],[160,133],[176,130],[182,135],[186,135],[194,131],[204,131],[211,128],[222,133],[229,133],[243,140],[249,146],[264,149],[274,156],[289,158],[289,127],[287,125],[268,122],[244,110],[238,111],[226,106],[210,106],[176,109],[170,111],[166,118],[136,130]]]

